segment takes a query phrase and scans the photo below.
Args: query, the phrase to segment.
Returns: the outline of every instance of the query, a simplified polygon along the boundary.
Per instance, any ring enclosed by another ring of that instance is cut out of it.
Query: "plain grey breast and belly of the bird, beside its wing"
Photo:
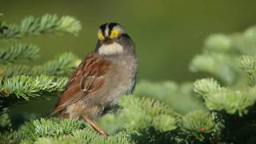
[[[106,104],[113,106],[120,96],[133,92],[138,64],[134,54],[120,55],[110,60],[114,67],[106,79],[109,89],[104,97]]]

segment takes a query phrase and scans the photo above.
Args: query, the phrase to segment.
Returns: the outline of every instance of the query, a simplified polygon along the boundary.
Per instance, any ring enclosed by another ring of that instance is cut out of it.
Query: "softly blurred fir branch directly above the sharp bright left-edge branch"
[[[50,76],[66,76],[70,74],[75,67],[78,66],[80,60],[72,53],[65,53],[58,58],[54,58],[49,62],[46,62],[42,66],[0,66],[2,77],[13,77],[17,75],[31,75],[36,76],[38,74],[46,74]]]

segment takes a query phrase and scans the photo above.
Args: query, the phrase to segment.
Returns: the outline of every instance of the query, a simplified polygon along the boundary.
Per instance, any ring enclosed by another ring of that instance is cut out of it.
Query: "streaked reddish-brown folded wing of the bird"
[[[50,116],[58,113],[74,102],[78,102],[87,94],[98,90],[104,82],[105,74],[110,61],[101,58],[98,54],[89,54],[78,66],[66,88],[58,98],[58,103]]]

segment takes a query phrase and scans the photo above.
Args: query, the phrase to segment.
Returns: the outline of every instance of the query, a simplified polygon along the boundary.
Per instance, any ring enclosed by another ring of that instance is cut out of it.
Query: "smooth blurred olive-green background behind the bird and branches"
[[[212,33],[230,34],[256,24],[256,1],[248,0],[1,0],[0,12],[6,22],[20,22],[27,15],[72,15],[82,22],[78,37],[46,35],[25,38],[41,47],[39,62],[63,51],[84,57],[97,42],[98,26],[119,22],[137,46],[139,78],[178,82],[198,78],[190,73],[190,59]],[[202,77],[202,75],[201,75]]]

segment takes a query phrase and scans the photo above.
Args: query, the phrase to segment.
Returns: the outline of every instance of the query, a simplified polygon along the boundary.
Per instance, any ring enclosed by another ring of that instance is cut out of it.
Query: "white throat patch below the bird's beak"
[[[98,53],[103,54],[103,55],[108,55],[108,54],[119,54],[122,53],[123,47],[114,42],[109,45],[103,44],[101,47],[98,48]]]

